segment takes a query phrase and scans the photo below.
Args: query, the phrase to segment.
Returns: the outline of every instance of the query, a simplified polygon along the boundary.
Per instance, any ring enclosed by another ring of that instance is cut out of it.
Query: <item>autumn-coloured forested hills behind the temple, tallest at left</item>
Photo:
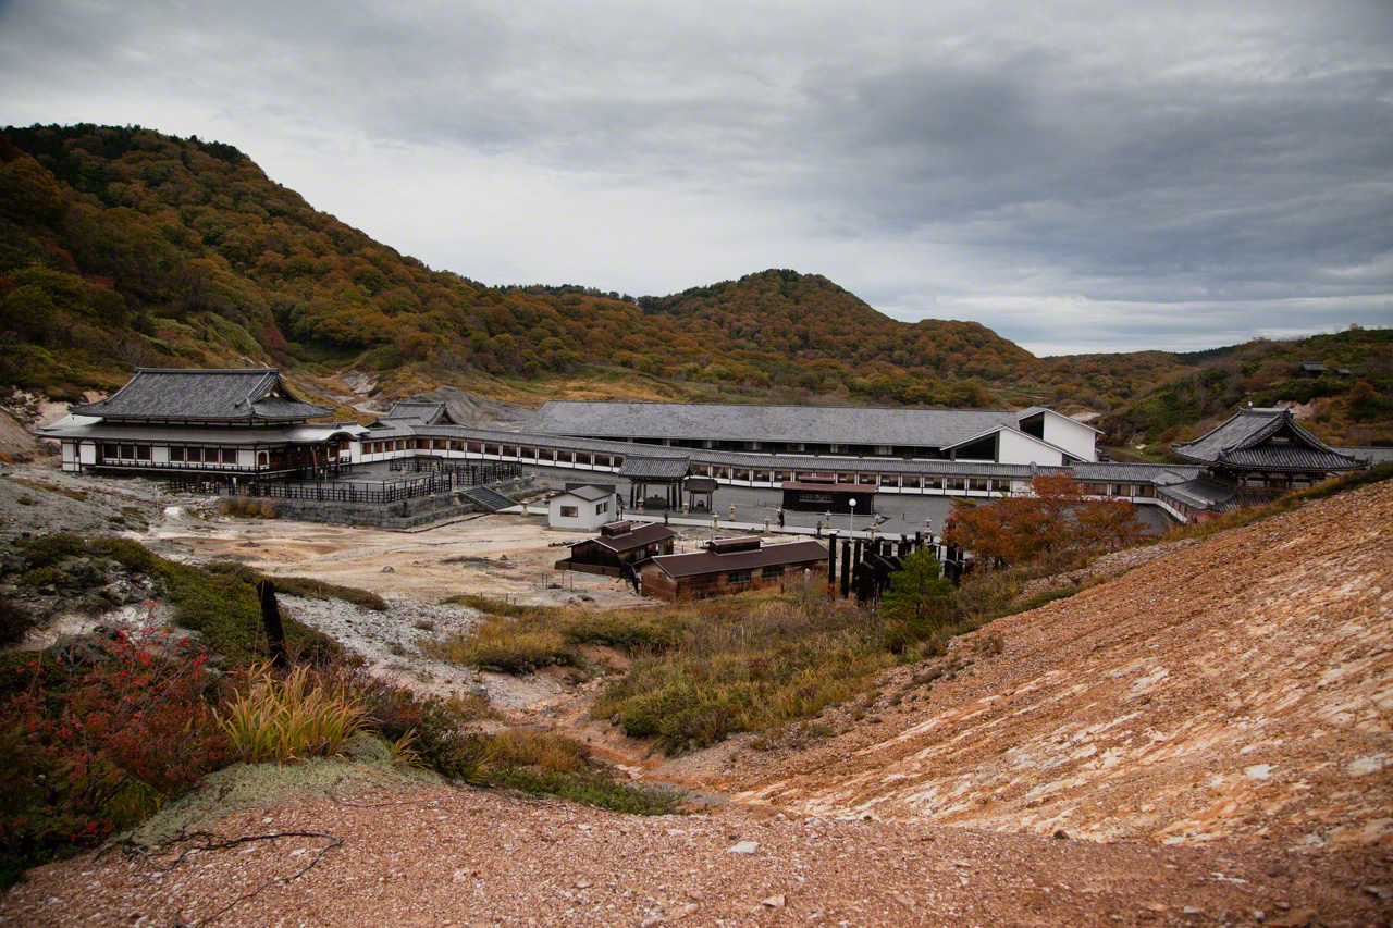
[[[134,365],[248,362],[382,372],[387,390],[603,380],[954,405],[1041,383],[1035,358],[982,326],[896,322],[788,270],[644,308],[613,297],[432,270],[230,145],[0,131],[0,386],[75,397]]]

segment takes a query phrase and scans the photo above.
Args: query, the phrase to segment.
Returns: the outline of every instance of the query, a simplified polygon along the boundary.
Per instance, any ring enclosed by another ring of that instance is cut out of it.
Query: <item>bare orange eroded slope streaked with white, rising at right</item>
[[[1393,843],[1393,484],[1217,535],[957,644],[1004,651],[744,793],[1096,839]],[[907,725],[908,727],[903,727]]]

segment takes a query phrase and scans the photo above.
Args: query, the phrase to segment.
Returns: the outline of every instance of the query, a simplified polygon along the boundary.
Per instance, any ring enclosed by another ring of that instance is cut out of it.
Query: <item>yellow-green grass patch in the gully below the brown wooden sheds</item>
[[[862,693],[882,669],[912,655],[885,648],[875,612],[820,595],[772,589],[656,609],[504,606],[476,634],[426,642],[429,654],[513,673],[579,662],[582,644],[632,659],[600,693],[593,713],[670,752],[815,716]]]

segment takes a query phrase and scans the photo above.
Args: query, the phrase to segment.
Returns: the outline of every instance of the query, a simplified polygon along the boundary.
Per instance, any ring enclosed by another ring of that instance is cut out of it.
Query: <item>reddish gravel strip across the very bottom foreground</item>
[[[320,836],[180,863],[191,843],[88,854],[32,871],[0,899],[0,922],[1386,925],[1393,914],[1389,856],[1368,850],[1107,844],[737,808],[641,818],[449,787],[301,798],[212,830]]]

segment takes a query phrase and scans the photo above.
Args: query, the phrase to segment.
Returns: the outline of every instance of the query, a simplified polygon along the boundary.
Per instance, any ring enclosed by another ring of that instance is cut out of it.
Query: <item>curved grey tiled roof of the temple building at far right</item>
[[[1272,438],[1284,433],[1290,443]],[[1301,428],[1291,410],[1238,410],[1194,442],[1170,446],[1177,456],[1217,467],[1277,471],[1353,471],[1362,464]]]

